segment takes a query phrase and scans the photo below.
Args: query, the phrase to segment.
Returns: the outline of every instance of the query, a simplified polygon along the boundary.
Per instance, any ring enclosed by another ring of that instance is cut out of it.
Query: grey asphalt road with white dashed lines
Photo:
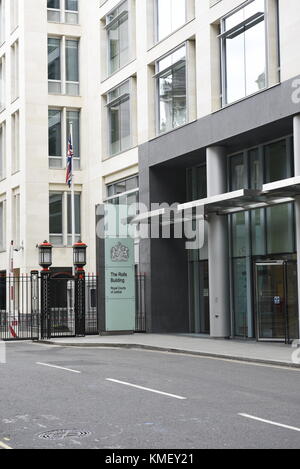
[[[0,449],[299,448],[300,371],[9,343]]]

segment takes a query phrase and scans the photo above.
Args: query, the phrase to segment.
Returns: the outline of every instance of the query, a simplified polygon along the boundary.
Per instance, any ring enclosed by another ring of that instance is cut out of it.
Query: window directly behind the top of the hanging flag
[[[80,169],[80,111],[66,108],[49,109],[48,122],[50,168],[65,168],[70,124],[72,123],[74,169]]]

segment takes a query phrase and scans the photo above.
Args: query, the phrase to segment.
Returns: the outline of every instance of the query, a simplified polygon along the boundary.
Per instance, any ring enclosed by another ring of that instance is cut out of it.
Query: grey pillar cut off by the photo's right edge
[[[294,167],[295,176],[300,176],[300,114],[294,117]],[[298,315],[300,338],[300,196],[295,198],[296,212],[296,246],[298,266]]]

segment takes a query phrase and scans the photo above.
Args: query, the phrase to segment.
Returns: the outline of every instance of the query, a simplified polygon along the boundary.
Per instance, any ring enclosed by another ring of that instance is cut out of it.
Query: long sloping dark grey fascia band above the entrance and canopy
[[[143,171],[212,145],[258,144],[292,130],[292,117],[300,113],[292,94],[297,77],[227,106],[195,122],[161,135],[139,147]],[[143,183],[143,179],[141,181]],[[143,191],[143,185],[140,184]]]

